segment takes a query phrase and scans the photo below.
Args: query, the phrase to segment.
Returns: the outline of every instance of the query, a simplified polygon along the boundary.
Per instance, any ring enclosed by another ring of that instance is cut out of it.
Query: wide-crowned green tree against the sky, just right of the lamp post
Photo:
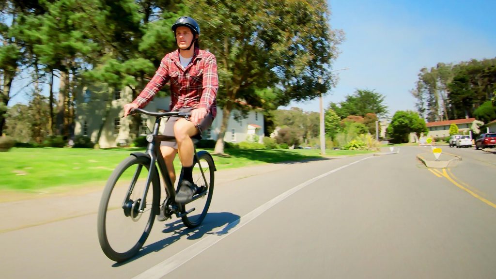
[[[374,90],[358,89],[353,95],[347,95],[345,98],[346,100],[339,104],[331,102],[329,105],[341,119],[350,115],[365,117],[368,113],[384,117],[389,113],[384,105],[384,95]]]

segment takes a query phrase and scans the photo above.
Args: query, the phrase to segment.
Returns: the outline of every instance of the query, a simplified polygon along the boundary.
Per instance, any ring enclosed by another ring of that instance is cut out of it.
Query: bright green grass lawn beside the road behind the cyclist
[[[211,149],[207,149],[212,152]],[[11,148],[0,152],[0,190],[39,192],[46,188],[103,186],[114,168],[131,152],[144,148]],[[320,158],[315,149],[226,149],[227,157],[213,156],[218,170],[261,163]],[[327,150],[326,156],[371,151]],[[180,170],[175,160],[176,171]]]

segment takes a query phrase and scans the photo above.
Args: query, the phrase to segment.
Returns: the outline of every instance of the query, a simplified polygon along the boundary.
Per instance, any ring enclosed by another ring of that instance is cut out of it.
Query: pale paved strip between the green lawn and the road
[[[227,169],[215,173],[215,187],[230,181],[260,175],[285,168],[287,164],[261,164]],[[15,194],[15,201],[0,203],[0,233],[55,222],[63,219],[94,214],[98,211],[101,187],[64,194]],[[7,194],[8,195],[8,194]]]

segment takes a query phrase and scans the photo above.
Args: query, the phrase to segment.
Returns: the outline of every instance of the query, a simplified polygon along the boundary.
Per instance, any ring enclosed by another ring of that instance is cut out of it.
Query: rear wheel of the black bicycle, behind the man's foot
[[[210,207],[210,202],[212,201],[212,195],[214,191],[214,171],[215,165],[212,157],[206,151],[198,152],[198,161],[196,158],[193,161],[193,183],[197,186],[205,186],[205,190],[200,193],[201,198],[196,199],[183,206],[182,211],[186,212],[188,209],[194,208],[195,210],[191,213],[181,217],[183,223],[188,228],[194,228],[201,224],[205,218],[208,208]],[[200,171],[203,170],[204,177]],[[182,177],[182,173],[181,173]],[[193,199],[195,196],[193,196]]]

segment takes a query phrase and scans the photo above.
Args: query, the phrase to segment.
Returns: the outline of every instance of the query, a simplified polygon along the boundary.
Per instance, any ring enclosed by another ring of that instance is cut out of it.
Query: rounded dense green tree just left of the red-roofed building
[[[394,142],[408,142],[410,133],[416,133],[420,138],[428,132],[425,120],[413,111],[397,111],[387,127],[387,135]]]

